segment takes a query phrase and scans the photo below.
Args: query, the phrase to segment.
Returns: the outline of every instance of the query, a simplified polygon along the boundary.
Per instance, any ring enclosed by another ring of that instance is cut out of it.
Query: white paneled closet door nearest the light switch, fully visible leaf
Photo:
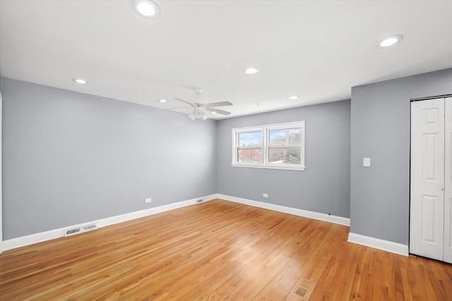
[[[411,103],[410,252],[443,260],[444,98]]]

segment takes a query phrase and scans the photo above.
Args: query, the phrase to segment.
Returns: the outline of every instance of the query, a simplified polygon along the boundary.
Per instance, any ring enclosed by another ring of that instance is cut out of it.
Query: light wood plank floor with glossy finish
[[[0,300],[452,300],[452,265],[349,228],[214,200],[0,255]]]

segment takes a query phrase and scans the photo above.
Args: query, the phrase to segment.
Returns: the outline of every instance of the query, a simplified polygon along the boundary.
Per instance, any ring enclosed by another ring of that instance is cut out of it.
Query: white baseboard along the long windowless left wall
[[[69,225],[68,227],[59,228],[55,230],[49,230],[46,232],[35,233],[32,235],[26,235],[22,237],[12,238],[11,240],[4,240],[3,247],[4,251],[9,249],[16,249],[18,247],[24,247],[29,244],[36,244],[37,242],[45,242],[46,240],[54,240],[55,238],[64,237],[64,232],[71,228],[82,227],[83,225],[96,223],[98,228],[105,227],[107,225],[114,225],[117,223],[122,223],[127,220],[133,220],[135,218],[143,218],[144,216],[152,216],[156,213],[161,213],[165,211],[169,211],[172,209],[182,208],[185,206],[190,206],[196,204],[196,201],[202,199],[203,202],[210,201],[215,199],[215,195],[203,196],[201,198],[189,199],[187,201],[180,201],[178,203],[170,203],[168,205],[163,205],[154,208],[148,208],[141,211],[135,211],[131,213],[121,214],[120,216],[112,216],[110,218],[103,218],[102,220],[94,220],[91,222],[78,224],[78,225]]]

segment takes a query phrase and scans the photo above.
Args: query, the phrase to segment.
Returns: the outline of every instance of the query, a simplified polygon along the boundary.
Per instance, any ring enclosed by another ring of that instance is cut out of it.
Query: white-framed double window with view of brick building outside
[[[232,129],[232,166],[304,170],[304,122]]]

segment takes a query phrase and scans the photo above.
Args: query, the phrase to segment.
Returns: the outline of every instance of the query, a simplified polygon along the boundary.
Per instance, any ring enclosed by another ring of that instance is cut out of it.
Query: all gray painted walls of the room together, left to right
[[[351,117],[345,100],[196,124],[128,102],[0,84],[4,240],[218,192],[350,217],[350,232],[408,244],[410,99],[451,94],[452,69],[354,87]],[[299,120],[307,170],[231,166],[232,128]]]

